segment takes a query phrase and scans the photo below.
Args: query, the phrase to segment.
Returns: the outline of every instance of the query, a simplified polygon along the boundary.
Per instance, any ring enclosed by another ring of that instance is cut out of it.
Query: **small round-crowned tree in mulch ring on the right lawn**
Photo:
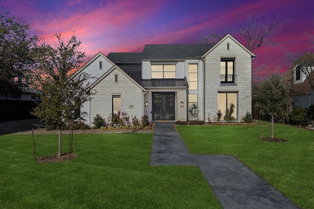
[[[274,139],[274,120],[288,120],[292,108],[291,86],[278,73],[258,84],[253,93],[256,108],[262,116],[271,117],[271,139]]]

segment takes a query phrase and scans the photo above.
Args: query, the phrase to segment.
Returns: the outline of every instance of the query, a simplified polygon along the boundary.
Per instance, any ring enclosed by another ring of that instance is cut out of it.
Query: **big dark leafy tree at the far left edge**
[[[10,12],[0,11],[0,94],[20,93],[28,87],[31,69],[37,56],[36,36],[28,35],[30,27]]]

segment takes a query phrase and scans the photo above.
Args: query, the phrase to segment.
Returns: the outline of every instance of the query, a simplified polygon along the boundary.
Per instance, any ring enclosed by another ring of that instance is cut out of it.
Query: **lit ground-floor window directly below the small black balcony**
[[[234,107],[232,107],[234,106]],[[232,110],[233,109],[233,110]],[[218,93],[218,112],[221,113],[221,120],[226,120],[227,113],[236,120],[237,116],[237,93]]]

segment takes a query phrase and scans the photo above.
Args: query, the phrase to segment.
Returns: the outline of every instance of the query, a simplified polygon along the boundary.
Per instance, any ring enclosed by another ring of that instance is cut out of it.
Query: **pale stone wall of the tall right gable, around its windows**
[[[227,50],[227,43],[230,49]],[[236,86],[220,86],[221,58],[235,58]],[[237,92],[237,119],[252,111],[251,97],[251,54],[230,37],[215,47],[205,57],[205,118],[217,114],[218,92]]]

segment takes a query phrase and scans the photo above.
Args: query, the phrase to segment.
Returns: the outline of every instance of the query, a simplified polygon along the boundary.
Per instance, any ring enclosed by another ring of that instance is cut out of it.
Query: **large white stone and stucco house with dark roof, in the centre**
[[[230,34],[217,44],[145,45],[143,52],[98,53],[86,72],[91,100],[81,109],[92,126],[96,114],[128,113],[149,121],[205,120],[235,105],[235,120],[251,111],[251,59]]]

